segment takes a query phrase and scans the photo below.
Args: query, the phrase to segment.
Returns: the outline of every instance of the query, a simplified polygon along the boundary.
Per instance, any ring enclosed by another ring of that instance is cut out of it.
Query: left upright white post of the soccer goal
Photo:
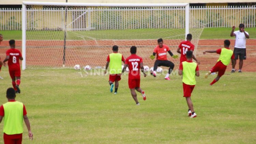
[[[22,4],[22,70],[26,69],[26,5]]]

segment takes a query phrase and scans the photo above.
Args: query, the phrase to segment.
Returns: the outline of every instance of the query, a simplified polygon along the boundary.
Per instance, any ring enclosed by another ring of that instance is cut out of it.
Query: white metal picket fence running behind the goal
[[[205,28],[238,26],[239,23],[255,27],[255,9],[255,6],[191,6],[190,17],[203,23]],[[0,9],[0,30],[21,30],[21,11]],[[64,8],[29,9],[27,17],[30,23],[27,24],[27,29],[61,30],[64,27],[64,13]],[[72,30],[185,28],[184,7],[83,7],[68,9],[67,17],[70,20],[67,22],[70,23],[68,29]],[[51,26],[47,27],[47,23]]]

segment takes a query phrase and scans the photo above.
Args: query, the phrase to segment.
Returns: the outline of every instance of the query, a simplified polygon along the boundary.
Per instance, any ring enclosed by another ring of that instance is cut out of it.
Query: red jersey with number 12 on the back
[[[125,59],[125,64],[130,70],[128,79],[140,79],[140,63],[143,63],[142,58],[136,54],[131,54]]]

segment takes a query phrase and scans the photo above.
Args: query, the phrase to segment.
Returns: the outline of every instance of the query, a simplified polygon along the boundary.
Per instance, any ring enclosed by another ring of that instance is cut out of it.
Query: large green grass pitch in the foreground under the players
[[[204,79],[205,71],[200,73],[191,97],[198,117],[190,119],[181,76],[171,76],[171,81],[143,77],[147,100],[138,94],[141,105],[136,106],[128,76],[122,76],[114,95],[108,76],[82,78],[73,69],[27,69],[16,100],[27,108],[34,140],[29,141],[24,124],[23,143],[254,144],[255,73],[227,72],[213,86],[209,83],[216,75]],[[12,84],[7,68],[0,75],[0,103],[5,103]]]

